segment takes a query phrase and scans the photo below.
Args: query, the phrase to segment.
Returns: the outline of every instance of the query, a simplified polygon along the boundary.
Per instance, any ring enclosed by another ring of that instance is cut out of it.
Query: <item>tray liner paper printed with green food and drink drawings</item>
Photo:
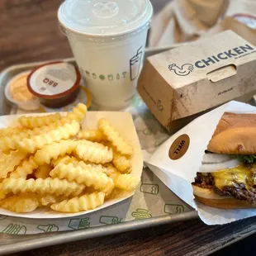
[[[143,154],[148,158],[160,144],[168,139],[169,135],[151,115],[140,97],[135,97],[132,106],[126,111],[130,111],[133,116]],[[12,114],[21,113],[24,112],[12,109]],[[143,220],[186,211],[192,211],[192,208],[173,194],[149,168],[145,168],[135,195],[116,205],[83,216],[62,219],[25,219],[2,215],[0,232],[28,235],[88,229],[99,225],[114,225],[128,220]]]

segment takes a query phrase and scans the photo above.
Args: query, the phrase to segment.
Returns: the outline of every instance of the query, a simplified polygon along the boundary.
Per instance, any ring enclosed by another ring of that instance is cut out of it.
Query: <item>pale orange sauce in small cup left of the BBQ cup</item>
[[[26,86],[26,78],[29,73],[22,73],[10,84],[12,98],[17,102],[28,102],[36,99]]]

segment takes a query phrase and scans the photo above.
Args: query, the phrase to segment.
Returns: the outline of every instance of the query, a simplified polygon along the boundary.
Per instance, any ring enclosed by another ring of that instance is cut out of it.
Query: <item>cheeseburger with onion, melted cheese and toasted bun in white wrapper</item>
[[[256,115],[225,113],[192,183],[197,201],[225,209],[256,207]]]

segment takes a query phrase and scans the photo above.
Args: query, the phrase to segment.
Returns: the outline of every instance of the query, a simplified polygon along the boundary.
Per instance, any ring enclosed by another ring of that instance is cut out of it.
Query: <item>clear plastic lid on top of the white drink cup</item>
[[[66,0],[58,12],[64,28],[89,36],[121,36],[148,26],[152,15],[149,0]]]

